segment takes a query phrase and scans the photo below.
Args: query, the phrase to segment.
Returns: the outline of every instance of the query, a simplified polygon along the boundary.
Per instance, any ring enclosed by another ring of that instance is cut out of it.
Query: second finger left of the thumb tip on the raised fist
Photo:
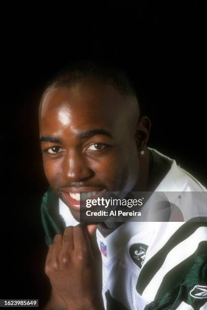
[[[70,252],[73,250],[73,248],[74,248],[73,226],[68,226],[65,228],[63,234],[62,253],[61,253],[61,260],[63,263],[68,262]]]

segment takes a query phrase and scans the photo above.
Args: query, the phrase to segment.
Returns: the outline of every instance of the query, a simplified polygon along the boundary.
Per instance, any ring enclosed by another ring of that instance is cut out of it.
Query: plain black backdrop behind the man
[[[45,82],[71,60],[120,63],[151,120],[148,145],[207,185],[206,5],[167,3],[2,8],[0,298],[48,298],[37,107]]]

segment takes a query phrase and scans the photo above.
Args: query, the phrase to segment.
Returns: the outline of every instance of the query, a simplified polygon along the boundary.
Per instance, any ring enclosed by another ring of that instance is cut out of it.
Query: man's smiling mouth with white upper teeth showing
[[[102,196],[104,191],[106,191],[106,188],[98,191],[83,191],[83,192],[69,192],[61,190],[64,200],[74,210],[80,210],[80,201],[86,202],[87,199],[97,199],[98,197]]]

